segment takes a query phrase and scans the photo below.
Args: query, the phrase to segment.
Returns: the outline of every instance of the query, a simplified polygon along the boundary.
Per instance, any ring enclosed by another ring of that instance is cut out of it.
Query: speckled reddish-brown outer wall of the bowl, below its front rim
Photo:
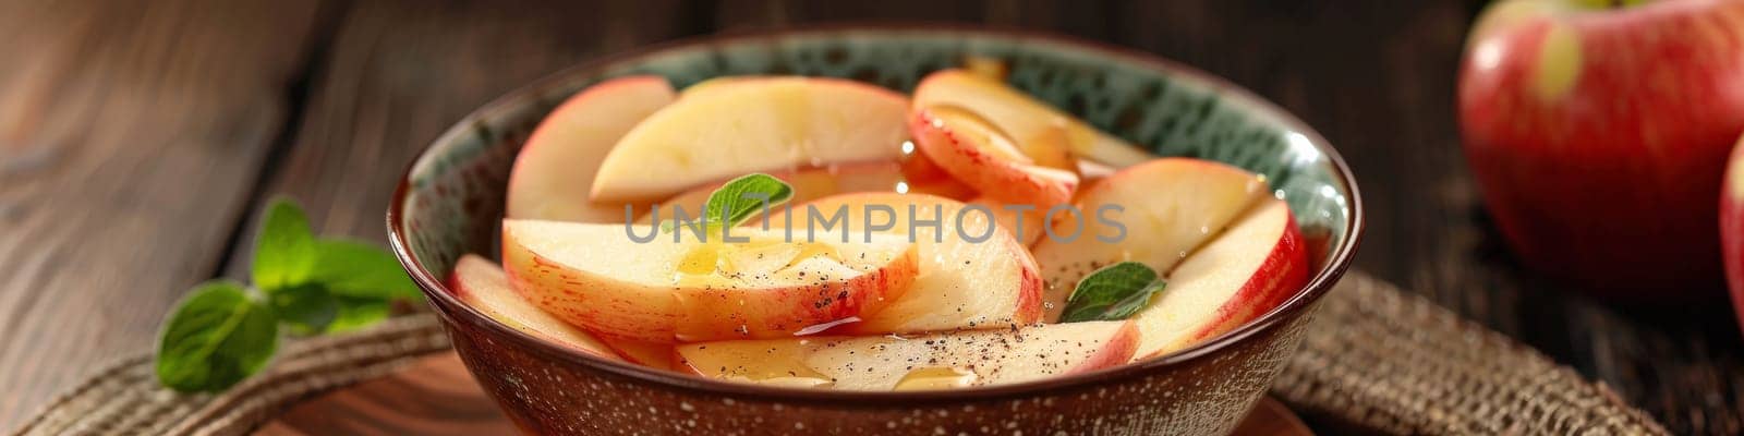
[[[1301,344],[1308,312],[1163,371],[973,398],[717,392],[572,364],[476,319],[450,319],[448,337],[534,434],[1226,434]]]

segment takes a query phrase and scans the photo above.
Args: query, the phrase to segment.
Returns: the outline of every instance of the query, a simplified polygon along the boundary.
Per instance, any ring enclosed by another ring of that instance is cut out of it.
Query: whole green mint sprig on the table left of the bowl
[[[317,239],[303,209],[274,199],[255,237],[255,288],[209,281],[164,321],[157,380],[181,392],[216,392],[260,371],[293,335],[351,331],[387,319],[417,286],[387,251],[358,241]]]

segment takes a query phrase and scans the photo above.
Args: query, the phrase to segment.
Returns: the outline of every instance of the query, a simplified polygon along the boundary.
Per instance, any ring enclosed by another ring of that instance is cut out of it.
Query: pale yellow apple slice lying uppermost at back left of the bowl
[[[713,84],[656,112],[605,155],[593,201],[652,201],[746,173],[895,160],[909,99],[842,78]]]

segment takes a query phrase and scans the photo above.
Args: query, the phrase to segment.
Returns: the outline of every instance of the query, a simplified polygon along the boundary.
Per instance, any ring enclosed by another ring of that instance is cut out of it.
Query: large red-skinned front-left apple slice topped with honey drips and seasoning
[[[637,235],[651,235],[638,242]],[[504,220],[502,258],[520,290],[558,319],[642,342],[787,337],[875,310],[909,290],[916,244],[900,235],[689,230]],[[673,241],[682,239],[682,241]],[[837,241],[849,242],[837,242]]]

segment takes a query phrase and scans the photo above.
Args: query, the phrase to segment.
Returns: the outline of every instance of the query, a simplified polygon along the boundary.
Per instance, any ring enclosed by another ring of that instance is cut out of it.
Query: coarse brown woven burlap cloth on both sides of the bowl
[[[398,317],[291,344],[269,371],[218,396],[159,389],[140,354],[66,391],[16,434],[246,434],[296,401],[446,347],[434,316]],[[1327,296],[1271,394],[1390,434],[1666,434],[1603,384],[1360,272]]]

